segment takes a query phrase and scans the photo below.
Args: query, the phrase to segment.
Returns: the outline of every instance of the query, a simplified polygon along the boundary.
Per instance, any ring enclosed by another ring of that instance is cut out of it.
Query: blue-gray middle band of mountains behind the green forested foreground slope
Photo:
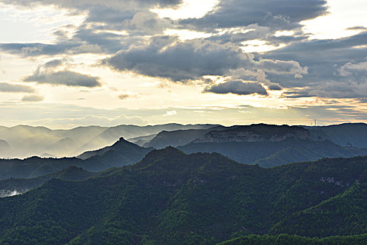
[[[197,127],[202,127],[202,125]],[[353,127],[353,125],[348,125],[348,127]],[[83,128],[83,130],[86,129]],[[153,147],[138,146],[120,138],[112,146],[86,151],[77,158],[58,160],[32,157],[25,160],[0,160],[0,180],[11,177],[34,178],[70,166],[83,167],[83,169],[94,172],[102,171],[109,167],[134,164],[144,158],[153,148],[165,148],[166,146],[177,146],[185,153],[221,153],[237,162],[257,164],[261,167],[273,167],[289,162],[311,161],[320,158],[349,158],[356,155],[367,155],[367,148],[356,148],[352,144],[340,146],[329,139],[315,140],[314,133],[310,132],[310,129],[307,130],[300,126],[264,124],[214,126],[205,130],[174,130],[171,132],[164,130],[155,137],[152,137],[151,134],[148,137],[152,138],[151,141],[146,142],[143,146]],[[88,137],[81,138],[87,139]],[[141,139],[138,137],[134,140]],[[352,141],[352,137],[349,137],[348,140]],[[4,142],[2,145],[4,148],[7,146]],[[43,154],[43,156],[53,157],[48,154]]]

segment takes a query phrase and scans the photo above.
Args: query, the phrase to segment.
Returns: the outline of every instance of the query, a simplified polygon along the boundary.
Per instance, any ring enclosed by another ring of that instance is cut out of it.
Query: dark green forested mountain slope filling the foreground
[[[50,179],[0,198],[0,243],[216,244],[240,237],[237,244],[292,244],[338,236],[324,240],[363,244],[366,190],[367,156],[262,168],[169,147],[93,178]]]

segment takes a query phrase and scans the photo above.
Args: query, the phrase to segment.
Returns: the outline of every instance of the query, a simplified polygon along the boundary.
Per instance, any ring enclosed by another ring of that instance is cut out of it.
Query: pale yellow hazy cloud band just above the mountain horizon
[[[238,110],[249,111],[249,113],[246,113],[246,117],[244,117],[244,114],[239,113]],[[176,115],[163,117],[162,115],[165,115],[167,111],[176,111]],[[300,104],[300,106],[287,106],[282,109],[272,106],[269,108],[236,104],[232,104],[229,108],[225,106],[191,106],[190,108],[165,107],[160,109],[94,109],[70,104],[42,103],[34,106],[32,103],[22,103],[0,104],[0,115],[3,125],[44,125],[54,129],[78,127],[81,125],[156,125],[167,123],[167,119],[170,119],[172,122],[173,118],[176,123],[183,124],[219,123],[223,125],[251,124],[253,122],[305,125],[309,122],[311,123],[313,118],[317,118],[317,122],[321,125],[358,121],[366,122],[367,119],[365,107],[349,102],[331,102],[331,104],[324,106]],[[124,115],[127,117],[125,120]],[[111,123],[112,120],[118,117],[122,118]]]

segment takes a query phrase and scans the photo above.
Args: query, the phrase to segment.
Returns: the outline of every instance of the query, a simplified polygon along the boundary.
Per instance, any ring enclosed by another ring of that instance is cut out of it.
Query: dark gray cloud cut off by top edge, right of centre
[[[253,23],[273,29],[293,29],[302,20],[327,13],[326,0],[226,0],[203,18],[181,20],[196,29],[245,27]]]

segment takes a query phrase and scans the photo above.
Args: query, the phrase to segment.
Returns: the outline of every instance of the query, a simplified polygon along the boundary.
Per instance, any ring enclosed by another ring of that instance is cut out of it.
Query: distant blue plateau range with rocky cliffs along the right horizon
[[[303,129],[306,129],[308,133],[306,130]],[[299,135],[293,133],[298,133]],[[301,134],[304,134],[303,137],[301,136]],[[262,137],[262,139],[254,138],[256,136]],[[226,139],[224,139],[223,137],[226,137]],[[253,137],[253,139],[251,139],[251,137]],[[267,137],[278,138],[267,139]],[[209,127],[205,130],[172,130],[169,132],[162,131],[155,136],[150,135],[146,138],[132,139],[132,143],[139,143],[139,146],[165,148],[167,146],[184,146],[193,141],[194,143],[223,143],[224,141],[256,142],[282,141],[288,138],[307,139],[312,141],[329,140],[340,146],[367,148],[367,125],[365,123],[345,123],[341,125],[330,125],[322,127],[289,127],[287,125],[277,126],[264,124],[235,125],[232,127],[216,126]]]

